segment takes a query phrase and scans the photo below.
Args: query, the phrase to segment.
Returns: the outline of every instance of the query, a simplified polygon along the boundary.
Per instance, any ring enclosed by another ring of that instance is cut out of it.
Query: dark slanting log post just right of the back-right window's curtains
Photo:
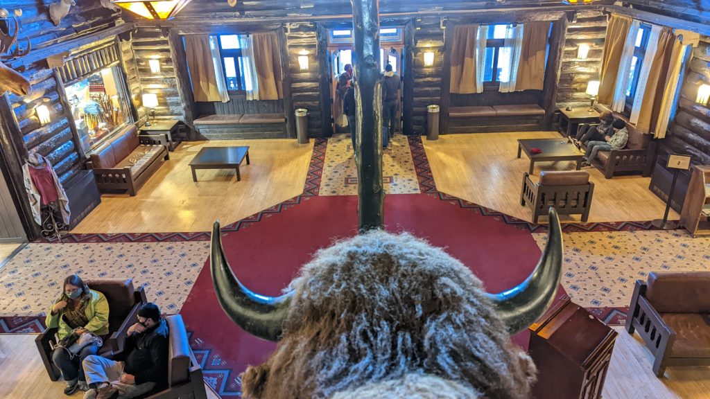
[[[550,129],[552,116],[557,108],[557,87],[559,76],[562,73],[562,57],[564,55],[564,42],[567,39],[567,26],[569,17],[574,14],[562,15],[557,21],[552,23],[552,34],[550,35],[550,56],[547,58],[545,68],[545,84],[543,85],[542,106],[545,109],[545,116],[542,119],[542,128]]]

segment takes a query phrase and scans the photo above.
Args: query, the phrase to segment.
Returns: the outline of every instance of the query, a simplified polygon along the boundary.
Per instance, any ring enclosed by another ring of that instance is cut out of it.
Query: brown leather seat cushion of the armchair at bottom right
[[[663,321],[676,333],[671,357],[710,358],[710,315],[661,313]]]

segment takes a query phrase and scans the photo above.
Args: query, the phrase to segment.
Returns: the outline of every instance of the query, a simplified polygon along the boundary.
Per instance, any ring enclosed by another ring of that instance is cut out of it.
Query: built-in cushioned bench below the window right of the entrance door
[[[449,131],[445,133],[490,133],[541,129],[545,109],[537,104],[452,106]]]

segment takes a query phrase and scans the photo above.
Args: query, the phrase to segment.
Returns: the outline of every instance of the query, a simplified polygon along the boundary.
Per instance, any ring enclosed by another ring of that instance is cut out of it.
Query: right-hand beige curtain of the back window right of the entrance
[[[545,83],[545,53],[549,31],[549,22],[525,23],[515,90],[542,90]]]

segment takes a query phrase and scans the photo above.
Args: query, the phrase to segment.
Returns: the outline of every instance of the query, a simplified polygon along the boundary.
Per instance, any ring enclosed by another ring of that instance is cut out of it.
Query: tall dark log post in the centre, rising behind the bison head
[[[356,156],[360,231],[384,224],[382,186],[382,82],[378,0],[351,0],[357,109]]]

